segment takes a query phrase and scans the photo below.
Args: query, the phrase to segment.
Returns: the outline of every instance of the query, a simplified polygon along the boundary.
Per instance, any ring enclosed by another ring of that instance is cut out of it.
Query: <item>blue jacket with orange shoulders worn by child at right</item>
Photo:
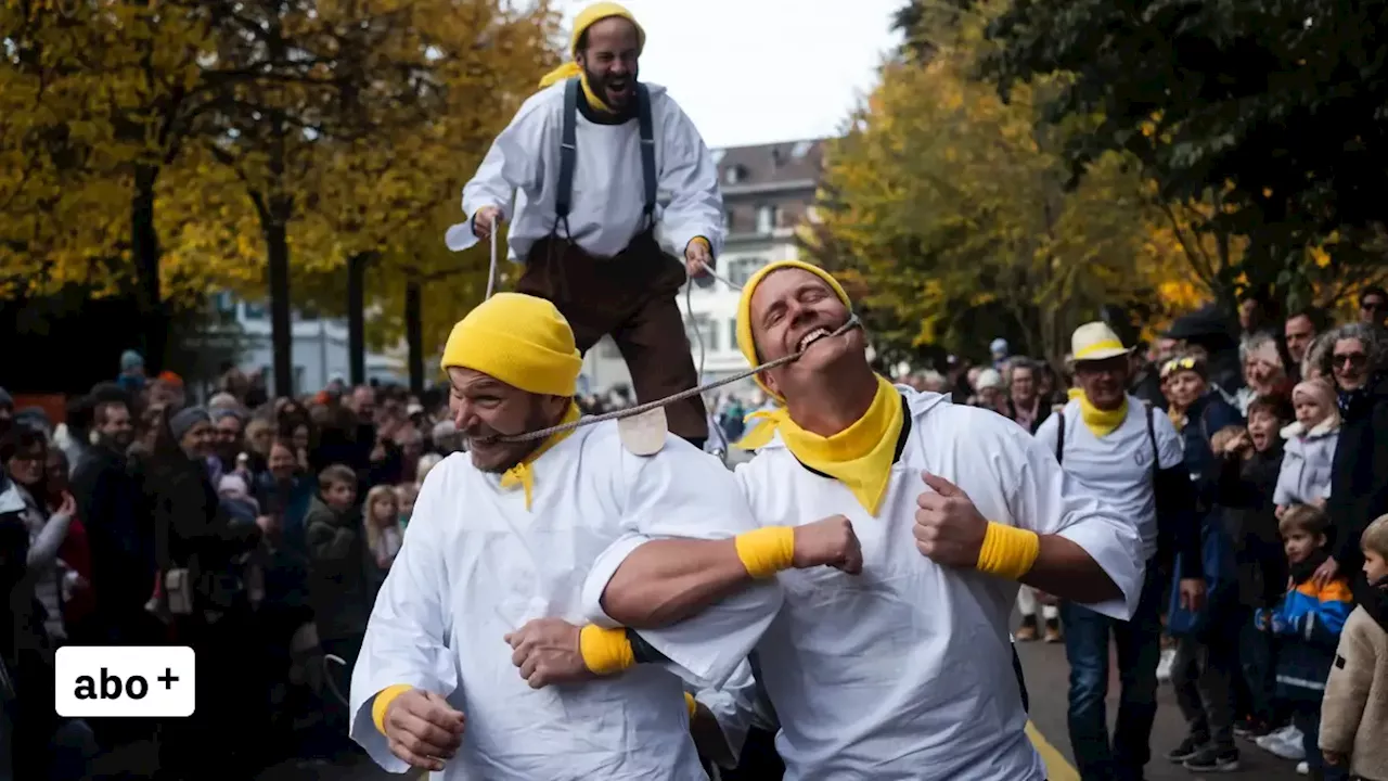
[[[1320,702],[1326,680],[1335,661],[1339,632],[1355,609],[1349,581],[1335,578],[1323,588],[1306,579],[1296,584],[1271,610],[1267,631],[1281,641],[1277,648],[1277,696],[1298,702]]]

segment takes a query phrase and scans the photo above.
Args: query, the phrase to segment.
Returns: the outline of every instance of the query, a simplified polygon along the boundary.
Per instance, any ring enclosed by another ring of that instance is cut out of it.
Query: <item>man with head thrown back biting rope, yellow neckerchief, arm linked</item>
[[[587,607],[620,623],[648,620],[655,605],[697,614],[701,595],[727,593],[751,557],[748,570],[779,573],[786,589],[756,657],[787,780],[1041,781],[1008,636],[1017,584],[1124,618],[1141,539],[1016,424],[876,375],[861,329],[833,335],[849,306],[833,277],[802,263],[748,281],[747,360],[808,346],[759,375],[784,407],[748,435],[759,452],[737,481],[763,528],[731,553],[648,541]],[[787,527],[826,511],[861,541],[861,574],[787,570]]]

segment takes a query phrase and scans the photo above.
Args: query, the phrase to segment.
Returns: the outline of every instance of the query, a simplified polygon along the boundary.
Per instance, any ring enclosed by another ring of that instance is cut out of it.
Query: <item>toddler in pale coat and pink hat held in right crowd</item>
[[[1283,429],[1287,454],[1273,491],[1278,514],[1292,504],[1324,507],[1330,496],[1330,467],[1339,441],[1339,406],[1324,379],[1307,379],[1292,389],[1296,422]]]

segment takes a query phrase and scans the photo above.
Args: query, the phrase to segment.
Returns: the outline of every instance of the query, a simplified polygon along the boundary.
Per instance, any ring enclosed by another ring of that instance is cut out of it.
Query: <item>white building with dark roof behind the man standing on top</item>
[[[815,202],[823,151],[822,139],[713,150],[727,231],[723,254],[718,258],[720,277],[740,286],[768,263],[797,258],[795,228]],[[737,352],[738,296],[740,288],[723,282],[708,288],[694,285],[687,297],[686,290],[680,290],[684,329],[695,365],[702,360],[704,382],[750,368]],[[630,385],[626,363],[611,339],[589,350],[583,377],[589,392]],[[752,381],[745,379],[729,385],[726,392],[747,393],[754,388]]]

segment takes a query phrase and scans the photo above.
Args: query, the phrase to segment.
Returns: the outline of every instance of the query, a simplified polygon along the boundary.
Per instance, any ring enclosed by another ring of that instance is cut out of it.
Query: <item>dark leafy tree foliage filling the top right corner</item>
[[[1047,118],[1099,118],[1066,139],[1073,175],[1123,151],[1163,203],[1217,200],[1198,229],[1249,242],[1221,297],[1327,303],[1385,274],[1382,22],[1373,3],[1017,0],[981,72],[1005,96],[1062,76]]]

